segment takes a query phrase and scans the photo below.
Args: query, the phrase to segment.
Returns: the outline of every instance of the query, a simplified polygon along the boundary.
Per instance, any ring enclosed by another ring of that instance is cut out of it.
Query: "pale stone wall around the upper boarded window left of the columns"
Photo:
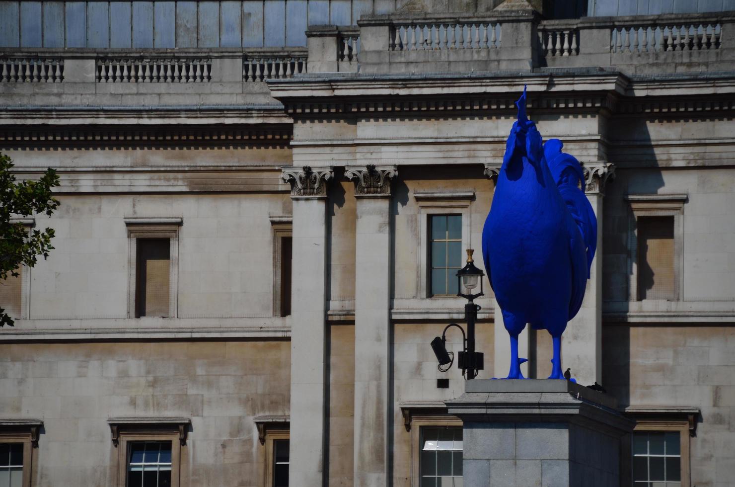
[[[124,218],[178,217],[179,318],[268,317],[273,235],[269,215],[290,214],[283,194],[60,196],[37,227],[54,252],[30,271],[31,319],[126,318],[129,238]]]

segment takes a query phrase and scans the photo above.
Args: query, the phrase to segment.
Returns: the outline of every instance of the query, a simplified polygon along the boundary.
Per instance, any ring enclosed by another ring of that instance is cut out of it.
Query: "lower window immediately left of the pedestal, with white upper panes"
[[[462,486],[462,427],[422,427],[420,487]]]

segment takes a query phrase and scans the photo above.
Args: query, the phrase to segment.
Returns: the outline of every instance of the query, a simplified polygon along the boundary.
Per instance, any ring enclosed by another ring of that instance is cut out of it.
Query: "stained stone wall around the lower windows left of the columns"
[[[34,486],[115,486],[107,419],[184,416],[182,486],[262,486],[254,416],[287,415],[288,341],[0,345],[0,411],[43,419]]]

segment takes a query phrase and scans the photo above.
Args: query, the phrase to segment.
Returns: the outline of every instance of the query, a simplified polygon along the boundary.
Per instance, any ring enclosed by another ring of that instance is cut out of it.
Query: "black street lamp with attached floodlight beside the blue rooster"
[[[441,338],[437,336],[436,338],[434,338],[434,340],[431,341],[431,348],[434,349],[434,355],[437,356],[437,360],[439,361],[439,370],[442,372],[447,372],[454,361],[453,354],[451,354],[451,352],[447,352],[446,349],[447,330],[449,330],[449,328],[451,327],[457,327],[459,328],[459,330],[462,331],[464,350],[462,352],[459,352],[457,366],[462,369],[462,375],[464,375],[467,380],[474,379],[475,377],[477,377],[477,373],[484,369],[483,353],[475,352],[475,321],[477,319],[477,312],[481,308],[476,305],[473,300],[479,296],[484,296],[484,293],[482,292],[482,277],[485,275],[485,273],[481,271],[481,269],[477,269],[477,267],[475,266],[475,260],[472,258],[473,252],[475,252],[473,249],[467,249],[467,264],[462,269],[459,269],[456,274],[458,281],[457,284],[459,288],[459,293],[457,293],[457,296],[461,296],[468,300],[467,304],[465,305],[467,335],[465,335],[465,330],[460,327],[459,324],[450,323],[445,327],[444,331],[442,332]],[[480,288],[478,290],[479,292],[473,294],[473,291],[477,288],[478,283],[480,285]],[[465,293],[463,293],[462,291],[465,291]],[[448,366],[445,369],[442,369],[442,366],[445,366],[447,364]]]

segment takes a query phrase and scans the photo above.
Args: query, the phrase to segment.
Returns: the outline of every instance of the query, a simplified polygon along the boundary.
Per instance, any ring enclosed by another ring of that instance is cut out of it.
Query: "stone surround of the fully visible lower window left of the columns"
[[[112,445],[118,449],[113,455],[116,464],[115,484],[125,487],[128,469],[129,443],[134,441],[171,441],[171,486],[178,487],[187,469],[182,469],[187,455],[182,455],[182,447],[186,445],[191,420],[188,418],[110,418]],[[186,481],[184,485],[188,485]]]

